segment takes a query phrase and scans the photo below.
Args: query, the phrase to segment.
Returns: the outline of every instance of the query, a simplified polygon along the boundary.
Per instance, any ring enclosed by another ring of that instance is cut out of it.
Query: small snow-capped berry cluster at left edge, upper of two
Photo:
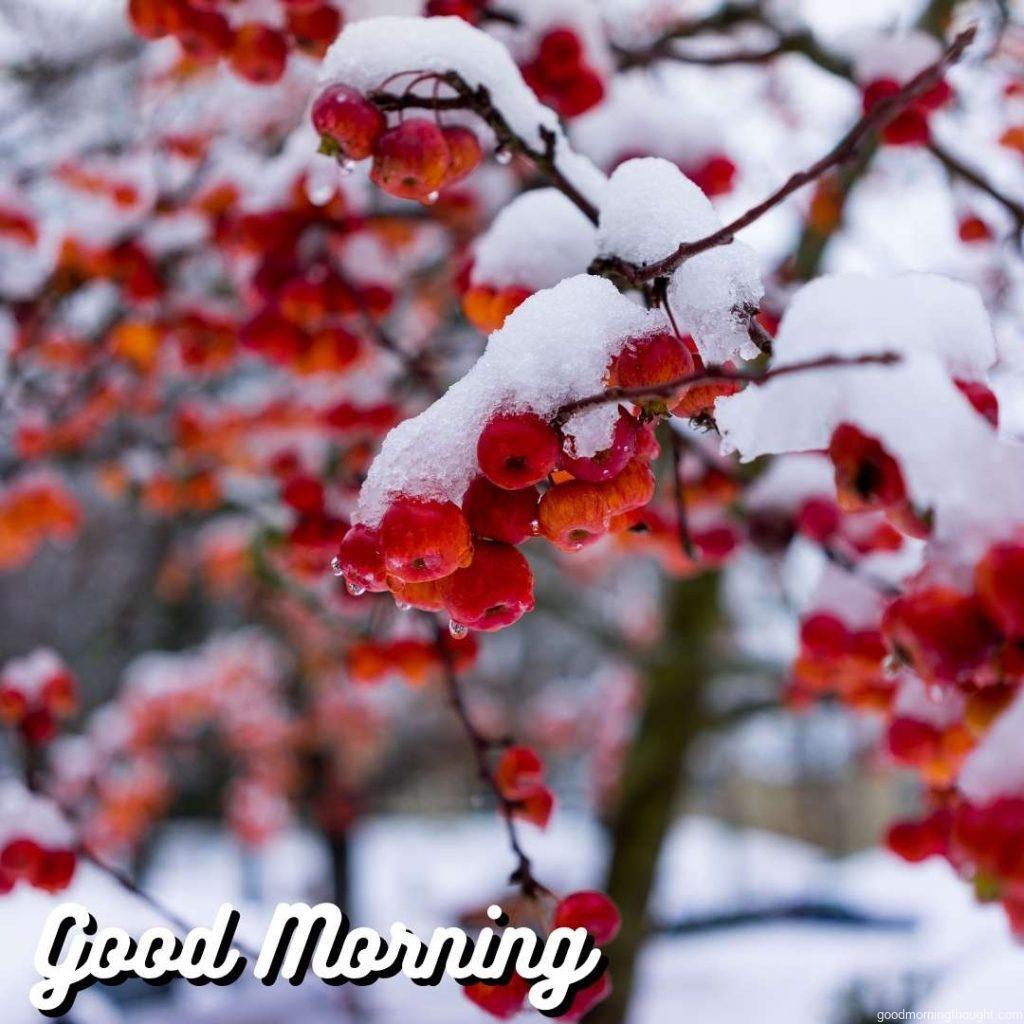
[[[33,745],[53,738],[58,719],[78,706],[78,684],[48,650],[8,662],[0,672],[0,722],[15,727]]]

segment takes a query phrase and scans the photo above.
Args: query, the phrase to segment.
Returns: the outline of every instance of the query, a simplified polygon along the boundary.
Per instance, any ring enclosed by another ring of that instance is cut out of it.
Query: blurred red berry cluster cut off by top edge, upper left
[[[230,0],[128,0],[128,18],[145,39],[171,36],[193,65],[223,59],[254,85],[271,85],[295,50],[319,59],[341,31],[342,15],[331,0],[280,0],[283,25],[232,24]]]

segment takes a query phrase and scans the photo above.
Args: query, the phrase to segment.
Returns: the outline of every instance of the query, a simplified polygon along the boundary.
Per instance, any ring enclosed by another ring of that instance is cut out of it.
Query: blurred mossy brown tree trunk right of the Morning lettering
[[[605,892],[623,915],[608,955],[612,994],[588,1024],[623,1024],[633,992],[637,954],[647,936],[648,900],[658,854],[684,778],[683,758],[705,725],[718,623],[718,577],[674,583],[667,596],[665,638],[645,667],[645,702],[609,824],[611,860]]]

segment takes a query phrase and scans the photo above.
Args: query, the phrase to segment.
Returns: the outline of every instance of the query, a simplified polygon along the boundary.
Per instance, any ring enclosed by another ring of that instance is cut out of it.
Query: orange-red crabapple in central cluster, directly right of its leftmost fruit
[[[473,558],[466,517],[452,502],[398,498],[381,521],[384,565],[406,583],[429,583]]]

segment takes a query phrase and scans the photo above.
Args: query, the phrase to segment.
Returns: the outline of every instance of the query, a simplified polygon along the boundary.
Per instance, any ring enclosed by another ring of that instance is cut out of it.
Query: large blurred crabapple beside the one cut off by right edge
[[[964,681],[984,665],[996,641],[976,597],[940,586],[893,601],[882,633],[897,657],[927,682]]]

